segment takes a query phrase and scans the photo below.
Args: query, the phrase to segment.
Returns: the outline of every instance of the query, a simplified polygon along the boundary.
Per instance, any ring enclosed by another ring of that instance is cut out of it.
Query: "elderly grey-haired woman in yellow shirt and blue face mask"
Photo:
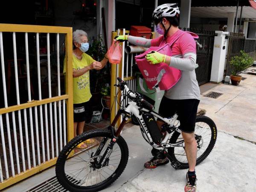
[[[101,70],[108,61],[107,55],[102,61],[95,61],[85,52],[89,49],[87,33],[83,30],[73,32],[73,104],[74,104],[74,137],[84,130],[85,121],[92,116],[90,105],[90,70]],[[65,58],[66,59],[66,58]],[[64,65],[65,65],[64,60]],[[64,71],[65,73],[65,66]],[[93,140],[86,140],[80,143],[78,148],[86,148],[85,143],[93,143]]]

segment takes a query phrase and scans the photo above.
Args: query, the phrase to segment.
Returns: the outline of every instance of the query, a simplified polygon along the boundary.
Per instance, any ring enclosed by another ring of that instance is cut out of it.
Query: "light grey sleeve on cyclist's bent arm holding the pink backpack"
[[[193,71],[196,67],[196,54],[188,52],[183,55],[183,58],[171,57],[169,65],[179,70]]]

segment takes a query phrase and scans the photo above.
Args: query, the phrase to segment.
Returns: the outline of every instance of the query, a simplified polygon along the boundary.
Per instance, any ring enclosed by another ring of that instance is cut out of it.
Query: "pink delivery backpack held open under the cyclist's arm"
[[[145,56],[151,51],[157,51],[162,54],[172,56],[172,51],[171,51],[172,44],[178,38],[180,38],[180,36],[183,35],[184,33],[185,32],[182,32],[171,43],[165,44],[163,47],[150,47],[143,54],[135,56],[137,66],[139,67],[140,72],[142,73],[143,78],[145,79],[145,82],[150,89],[156,89],[157,92],[159,92],[160,90],[169,90],[177,83],[177,81],[180,80],[181,71],[174,67],[170,67],[166,63],[159,63],[155,65],[149,64]],[[189,32],[189,33],[191,33],[191,35],[194,38],[198,38],[198,35],[192,32]],[[164,43],[165,42],[163,41],[161,42],[161,44],[164,44]],[[142,79],[142,82],[140,79],[140,85],[141,83],[143,83],[143,79]],[[141,88],[144,92],[146,92],[143,87]]]

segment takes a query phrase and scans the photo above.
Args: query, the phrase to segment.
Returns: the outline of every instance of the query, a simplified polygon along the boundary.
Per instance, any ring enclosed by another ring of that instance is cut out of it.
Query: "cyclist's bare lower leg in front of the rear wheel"
[[[182,132],[182,137],[185,143],[186,157],[189,162],[189,171],[194,172],[197,154],[197,143],[195,140],[195,133]]]

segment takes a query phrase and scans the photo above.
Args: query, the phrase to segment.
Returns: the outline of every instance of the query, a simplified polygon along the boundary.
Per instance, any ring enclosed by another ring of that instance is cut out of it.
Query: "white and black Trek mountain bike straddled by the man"
[[[129,90],[122,79],[117,78],[119,90],[128,97],[128,104],[119,109],[108,130],[91,130],[73,138],[62,149],[56,163],[56,176],[61,185],[71,192],[95,192],[105,189],[124,171],[128,162],[128,146],[120,135],[131,114],[137,117],[143,138],[153,148],[161,150],[175,169],[187,169],[185,145],[178,128],[178,115],[166,118],[154,112],[154,106],[139,93]],[[121,102],[122,103],[122,102]],[[123,120],[115,130],[120,116]],[[160,129],[155,118],[164,121]],[[215,123],[207,116],[197,116],[195,140],[197,141],[196,164],[201,163],[212,151],[217,138]],[[87,148],[76,148],[85,140]]]

